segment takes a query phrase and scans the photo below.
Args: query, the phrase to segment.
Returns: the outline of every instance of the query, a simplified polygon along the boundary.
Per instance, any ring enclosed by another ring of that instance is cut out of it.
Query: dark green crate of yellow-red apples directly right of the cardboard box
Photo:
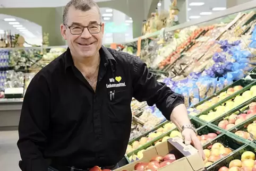
[[[204,164],[206,167],[211,167],[218,161],[224,159],[227,156],[232,155],[232,153],[242,146],[245,143],[228,134],[221,134],[216,139],[211,142],[204,144],[203,152],[206,156]]]

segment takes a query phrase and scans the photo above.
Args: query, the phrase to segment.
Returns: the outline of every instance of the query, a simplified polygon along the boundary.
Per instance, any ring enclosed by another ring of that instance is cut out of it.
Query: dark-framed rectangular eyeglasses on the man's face
[[[92,24],[92,25],[87,25],[87,26],[81,26],[81,25],[66,25],[67,28],[70,29],[70,33],[72,35],[81,35],[84,31],[84,28],[87,28],[88,31],[91,34],[97,34],[101,31],[101,26],[102,24]]]

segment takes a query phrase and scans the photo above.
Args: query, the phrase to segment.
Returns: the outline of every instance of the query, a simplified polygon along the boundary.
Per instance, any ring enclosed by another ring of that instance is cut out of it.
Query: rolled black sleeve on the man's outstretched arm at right
[[[161,113],[170,120],[173,109],[184,104],[184,97],[172,91],[165,83],[158,82],[139,58],[133,58],[133,97],[138,101],[147,101],[149,106],[156,104]]]

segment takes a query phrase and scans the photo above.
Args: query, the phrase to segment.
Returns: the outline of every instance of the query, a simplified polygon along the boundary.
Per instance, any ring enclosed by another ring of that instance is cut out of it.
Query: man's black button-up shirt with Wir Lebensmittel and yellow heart
[[[26,171],[46,171],[44,159],[77,168],[112,166],[129,142],[132,97],[156,104],[167,119],[184,103],[138,57],[104,46],[99,52],[96,92],[74,66],[70,49],[30,82],[18,141]]]

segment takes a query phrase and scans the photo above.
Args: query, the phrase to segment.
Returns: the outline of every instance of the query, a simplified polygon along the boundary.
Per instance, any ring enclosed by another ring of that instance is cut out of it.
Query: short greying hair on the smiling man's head
[[[81,11],[89,11],[91,10],[92,7],[97,7],[97,10],[99,12],[100,16],[100,22],[102,21],[101,13],[99,10],[99,6],[97,3],[93,0],[71,0],[69,3],[66,4],[62,16],[62,22],[63,24],[67,23],[67,13],[69,12],[69,8],[71,6],[74,6],[76,10],[81,10]]]

